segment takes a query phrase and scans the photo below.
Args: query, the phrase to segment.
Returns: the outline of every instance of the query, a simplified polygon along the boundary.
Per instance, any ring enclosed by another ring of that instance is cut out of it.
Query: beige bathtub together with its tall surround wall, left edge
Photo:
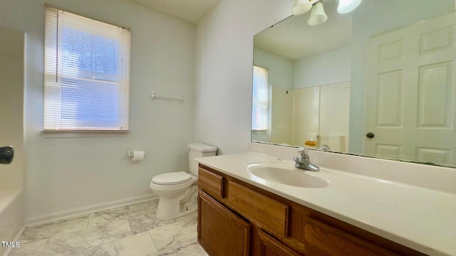
[[[13,162],[0,164],[1,241],[13,241],[24,225],[24,40],[0,26],[0,146],[14,146]]]

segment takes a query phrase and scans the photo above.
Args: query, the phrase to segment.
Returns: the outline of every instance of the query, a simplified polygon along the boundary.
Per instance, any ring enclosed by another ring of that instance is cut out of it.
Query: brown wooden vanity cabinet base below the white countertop
[[[198,242],[222,255],[424,255],[199,164]]]

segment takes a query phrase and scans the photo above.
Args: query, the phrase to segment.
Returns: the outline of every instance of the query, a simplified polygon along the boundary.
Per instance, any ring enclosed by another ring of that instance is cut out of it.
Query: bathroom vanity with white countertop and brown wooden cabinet
[[[452,194],[327,168],[306,174],[326,186],[290,186],[249,166],[291,161],[249,152],[197,160],[198,242],[209,255],[456,255]],[[412,191],[391,198],[401,189]],[[429,202],[437,215],[417,210]]]

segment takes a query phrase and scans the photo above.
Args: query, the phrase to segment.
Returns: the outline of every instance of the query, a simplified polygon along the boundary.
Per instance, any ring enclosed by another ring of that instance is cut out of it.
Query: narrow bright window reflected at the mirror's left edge
[[[254,66],[252,92],[252,130],[267,131],[269,129],[269,90],[267,70]]]

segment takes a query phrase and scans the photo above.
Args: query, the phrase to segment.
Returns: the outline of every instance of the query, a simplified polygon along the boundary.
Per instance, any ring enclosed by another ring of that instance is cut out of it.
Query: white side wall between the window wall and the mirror
[[[253,36],[290,14],[293,1],[222,0],[197,28],[195,137],[217,154],[247,151]]]

